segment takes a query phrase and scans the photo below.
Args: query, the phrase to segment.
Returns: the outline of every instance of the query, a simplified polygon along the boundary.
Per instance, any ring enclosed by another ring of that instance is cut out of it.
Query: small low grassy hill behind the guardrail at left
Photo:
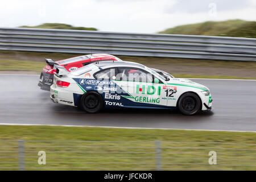
[[[97,30],[92,27],[73,27],[70,24],[64,23],[43,23],[38,26],[21,26],[22,28],[52,28],[52,29],[67,29],[67,30]]]

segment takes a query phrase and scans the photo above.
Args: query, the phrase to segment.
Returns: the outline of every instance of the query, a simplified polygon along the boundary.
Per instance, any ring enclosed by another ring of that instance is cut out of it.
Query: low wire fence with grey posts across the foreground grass
[[[0,160],[1,170],[255,170],[256,144],[2,140]]]

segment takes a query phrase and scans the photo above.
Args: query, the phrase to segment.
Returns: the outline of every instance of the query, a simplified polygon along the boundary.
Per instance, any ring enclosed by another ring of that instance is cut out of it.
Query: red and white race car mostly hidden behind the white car
[[[49,90],[52,85],[53,75],[56,73],[56,69],[54,69],[54,65],[61,65],[65,67],[69,72],[74,71],[78,68],[84,67],[90,63],[94,63],[96,61],[122,61],[118,57],[108,54],[91,54],[91,55],[83,55],[72,57],[65,60],[53,61],[51,59],[45,59],[47,65],[43,68],[43,71],[39,78],[38,86],[42,90]]]

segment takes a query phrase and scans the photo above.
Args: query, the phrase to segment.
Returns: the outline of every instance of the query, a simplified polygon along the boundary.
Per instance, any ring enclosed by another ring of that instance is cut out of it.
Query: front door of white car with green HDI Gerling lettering
[[[166,106],[167,100],[162,99],[165,96],[162,81],[141,68],[118,67],[119,86],[129,94],[128,98],[132,102],[127,105],[152,107]]]

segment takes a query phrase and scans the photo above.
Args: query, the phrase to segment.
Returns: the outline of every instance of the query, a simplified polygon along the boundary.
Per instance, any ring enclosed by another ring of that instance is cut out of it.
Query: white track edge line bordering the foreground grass
[[[200,129],[165,129],[165,128],[153,128],[153,127],[119,127],[119,126],[87,126],[87,125],[44,125],[44,124],[23,124],[23,123],[0,123],[1,125],[11,126],[65,126],[65,127],[101,127],[110,129],[147,129],[147,130],[186,130],[186,131],[230,131],[230,132],[251,132],[256,131],[238,131],[238,130],[200,130]]]

